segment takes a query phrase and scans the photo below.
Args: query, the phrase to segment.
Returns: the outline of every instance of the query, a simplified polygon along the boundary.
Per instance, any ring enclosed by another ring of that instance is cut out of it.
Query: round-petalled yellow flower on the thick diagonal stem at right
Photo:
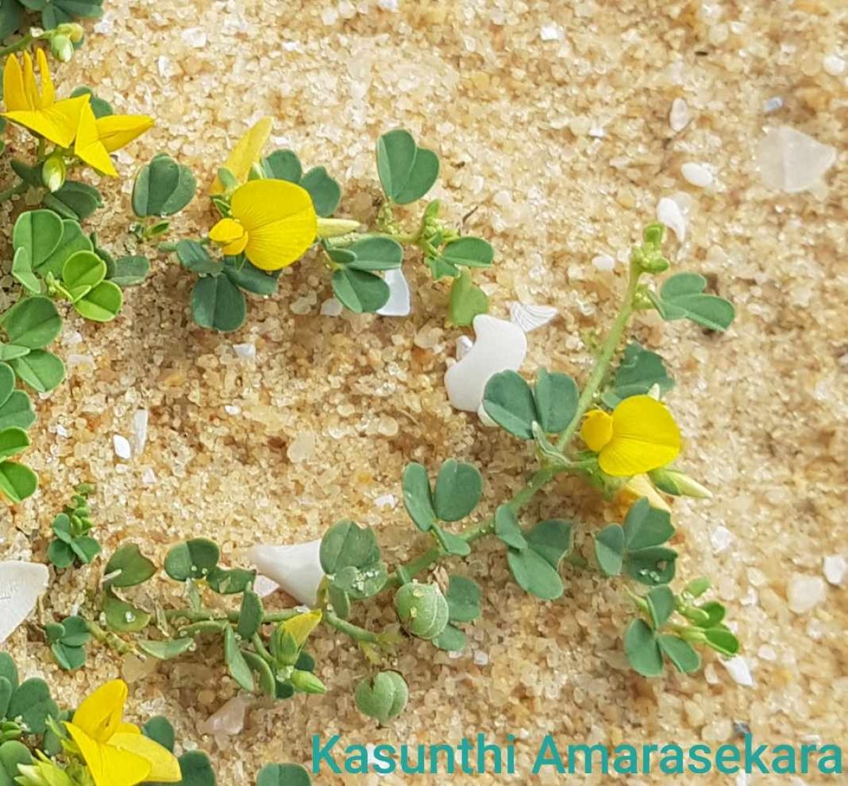
[[[598,454],[598,465],[611,477],[641,475],[675,460],[680,430],[664,404],[650,396],[632,396],[612,415],[592,410],[581,430],[583,442]]]

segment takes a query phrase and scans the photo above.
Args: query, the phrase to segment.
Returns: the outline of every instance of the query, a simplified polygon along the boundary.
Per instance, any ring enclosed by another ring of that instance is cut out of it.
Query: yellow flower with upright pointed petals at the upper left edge
[[[36,52],[36,59],[42,75],[40,90],[29,53],[24,53],[23,70],[14,55],[6,59],[3,67],[3,100],[6,103],[6,112],[3,117],[35,131],[48,142],[53,142],[61,148],[70,148],[82,108],[87,105],[89,97],[79,96],[56,101],[53,79],[42,49]]]

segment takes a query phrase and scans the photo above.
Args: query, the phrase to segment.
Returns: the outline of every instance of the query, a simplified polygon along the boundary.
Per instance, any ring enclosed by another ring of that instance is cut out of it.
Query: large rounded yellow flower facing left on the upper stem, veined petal
[[[300,259],[315,242],[318,217],[304,188],[284,180],[254,180],[239,186],[209,239],[224,254],[244,254],[260,270],[280,270]]]

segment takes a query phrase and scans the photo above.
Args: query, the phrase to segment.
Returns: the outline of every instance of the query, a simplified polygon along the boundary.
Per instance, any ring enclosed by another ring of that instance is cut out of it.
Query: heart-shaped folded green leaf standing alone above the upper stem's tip
[[[382,190],[395,203],[425,196],[438,178],[438,156],[419,148],[409,131],[396,129],[377,141],[377,172]]]

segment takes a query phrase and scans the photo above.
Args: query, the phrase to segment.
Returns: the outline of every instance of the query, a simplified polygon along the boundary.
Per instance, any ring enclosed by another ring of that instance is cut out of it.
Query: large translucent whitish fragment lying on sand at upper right
[[[836,160],[836,148],[780,125],[760,142],[756,165],[767,188],[797,193],[817,187]]]

